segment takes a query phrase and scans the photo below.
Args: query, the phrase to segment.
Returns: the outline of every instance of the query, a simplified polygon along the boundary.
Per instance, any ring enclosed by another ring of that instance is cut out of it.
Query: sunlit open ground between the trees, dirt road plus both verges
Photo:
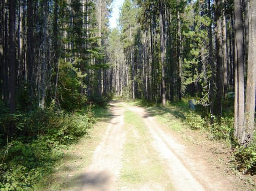
[[[121,101],[66,154],[44,190],[256,190],[227,168],[226,144]]]

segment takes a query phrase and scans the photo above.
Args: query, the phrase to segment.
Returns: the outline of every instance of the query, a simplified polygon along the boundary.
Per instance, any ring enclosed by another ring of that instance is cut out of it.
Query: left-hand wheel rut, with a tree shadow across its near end
[[[81,177],[77,190],[115,190],[116,180],[122,167],[122,147],[126,138],[123,109],[115,103],[113,118],[93,156],[93,162]]]

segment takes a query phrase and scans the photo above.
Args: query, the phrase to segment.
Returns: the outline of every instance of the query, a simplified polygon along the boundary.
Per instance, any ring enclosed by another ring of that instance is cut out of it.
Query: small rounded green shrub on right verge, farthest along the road
[[[190,111],[186,116],[186,122],[191,129],[198,130],[204,128],[206,123],[201,115],[196,114],[194,111]]]

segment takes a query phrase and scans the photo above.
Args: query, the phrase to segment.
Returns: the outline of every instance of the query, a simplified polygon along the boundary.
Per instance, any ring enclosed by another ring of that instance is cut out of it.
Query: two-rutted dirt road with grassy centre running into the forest
[[[71,175],[67,190],[244,190],[217,177],[145,109],[115,101],[111,113],[92,163]]]

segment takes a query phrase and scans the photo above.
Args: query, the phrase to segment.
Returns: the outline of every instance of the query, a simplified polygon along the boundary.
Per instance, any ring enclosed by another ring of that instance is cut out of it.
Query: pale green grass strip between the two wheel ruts
[[[143,119],[132,111],[124,112],[128,132],[123,147],[122,187],[153,190],[173,190],[158,153],[151,146],[151,138]],[[163,184],[164,183],[164,184]]]

